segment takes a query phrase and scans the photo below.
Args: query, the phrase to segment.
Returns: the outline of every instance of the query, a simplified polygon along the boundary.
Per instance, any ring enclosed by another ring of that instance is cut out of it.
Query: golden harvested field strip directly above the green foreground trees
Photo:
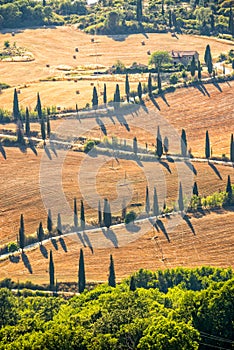
[[[135,225],[134,232],[131,228],[127,231],[113,226],[109,233],[97,230],[79,236],[72,234],[64,240],[57,239],[56,243],[47,242],[40,249],[27,251],[24,261],[20,255],[11,261],[2,261],[1,278],[11,276],[15,281],[48,283],[47,256],[52,249],[56,279],[59,282],[77,281],[79,250],[84,245],[86,279],[89,282],[107,281],[110,253],[114,257],[117,280],[140,268],[233,266],[233,216],[229,211],[205,213],[201,218],[190,217],[187,222],[181,219],[172,231],[168,227],[173,226],[178,216],[162,219],[160,225],[168,232],[170,243],[161,229],[151,229],[141,236],[137,230],[144,229],[145,224]],[[153,239],[155,236],[157,238]]]

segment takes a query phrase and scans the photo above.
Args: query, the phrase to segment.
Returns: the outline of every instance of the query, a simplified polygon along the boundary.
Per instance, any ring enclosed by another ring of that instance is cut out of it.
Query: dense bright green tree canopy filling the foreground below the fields
[[[140,270],[69,300],[0,290],[0,349],[231,349],[233,271]]]

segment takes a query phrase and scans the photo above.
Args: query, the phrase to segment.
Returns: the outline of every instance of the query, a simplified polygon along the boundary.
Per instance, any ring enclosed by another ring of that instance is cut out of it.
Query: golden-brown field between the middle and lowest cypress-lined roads
[[[199,192],[209,195],[224,190],[227,176],[233,178],[233,168],[207,163],[193,163],[194,169],[183,163],[143,162],[119,160],[120,164],[105,157],[91,158],[84,153],[53,150],[47,153],[31,149],[22,153],[17,148],[5,148],[7,159],[1,156],[0,178],[0,237],[1,243],[14,241],[18,233],[20,214],[24,214],[26,234],[33,233],[39,221],[46,227],[46,208],[53,208],[56,226],[57,213],[62,223],[73,225],[73,198],[84,198],[86,220],[97,220],[97,203],[108,197],[112,211],[121,211],[122,198],[130,203],[142,203],[138,213],[144,211],[145,186],[148,183],[152,205],[153,187],[157,187],[159,203],[164,199],[170,206],[178,197],[178,181],[184,185],[184,193],[190,193],[193,181],[197,181]],[[114,170],[113,170],[113,168]],[[170,173],[170,172],[171,173]],[[194,173],[197,173],[195,175]],[[126,180],[125,180],[126,178]],[[178,180],[180,179],[180,180]],[[62,191],[62,194],[60,193]],[[65,199],[63,197],[65,195]],[[120,198],[120,199],[118,199]],[[113,213],[114,214],[114,213]]]

